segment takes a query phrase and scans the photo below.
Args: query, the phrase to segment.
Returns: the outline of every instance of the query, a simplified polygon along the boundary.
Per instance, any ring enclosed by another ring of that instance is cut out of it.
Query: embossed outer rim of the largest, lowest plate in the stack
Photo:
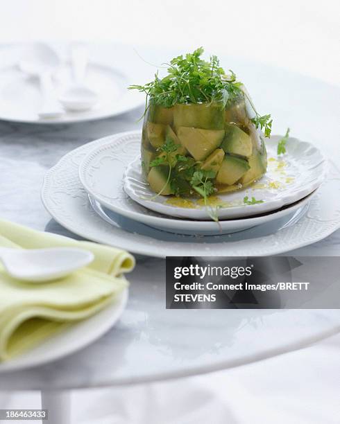
[[[125,134],[129,133],[125,132]],[[337,209],[333,208],[334,216],[325,215],[325,206],[323,206],[323,202],[320,202],[318,196],[316,196],[316,199],[311,202],[312,204],[307,215],[297,224],[268,236],[237,242],[217,242],[217,246],[210,245],[211,249],[208,251],[205,249],[205,244],[185,243],[183,246],[183,243],[153,242],[152,239],[146,242],[143,238],[141,240],[141,236],[138,234],[131,235],[126,231],[123,232],[120,229],[114,229],[110,224],[101,220],[101,218],[94,216],[96,215],[95,213],[90,213],[90,209],[86,210],[82,206],[78,207],[75,211],[76,196],[66,193],[69,187],[69,180],[66,182],[62,181],[65,175],[64,173],[60,175],[60,170],[64,170],[65,167],[72,171],[71,182],[75,186],[76,195],[78,199],[80,198],[82,202],[85,202],[87,193],[80,184],[80,181],[78,181],[80,157],[83,159],[93,148],[107,143],[109,140],[112,140],[112,137],[114,136],[105,136],[71,150],[71,152],[65,154],[55,166],[47,171],[43,179],[41,198],[46,211],[62,227],[87,240],[118,246],[135,254],[157,258],[164,258],[173,254],[176,254],[176,256],[187,256],[188,254],[191,256],[200,256],[202,253],[205,256],[266,256],[282,254],[286,251],[311,245],[330,236],[330,234],[340,228],[339,206],[336,206]],[[330,164],[332,164],[332,161],[330,161]],[[334,175],[328,178],[325,184],[330,184],[333,180],[336,180],[336,187],[339,187],[339,170],[334,165],[331,168],[334,169]],[[58,179],[58,184],[56,184],[56,178]],[[62,182],[61,186],[60,182]],[[65,196],[57,199],[56,193],[60,192],[61,188],[65,190]],[[327,190],[327,187],[325,186],[323,188],[321,186],[319,196],[322,195],[324,190]],[[328,206],[327,211],[329,210]],[[79,213],[83,215],[81,219],[79,219]],[[318,213],[317,217],[314,216],[315,213]]]

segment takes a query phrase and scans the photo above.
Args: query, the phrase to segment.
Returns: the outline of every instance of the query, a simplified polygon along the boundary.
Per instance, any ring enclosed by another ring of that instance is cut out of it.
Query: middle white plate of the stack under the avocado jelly
[[[221,220],[217,224],[212,220],[167,218],[166,215],[146,209],[139,202],[132,201],[126,195],[126,191],[122,189],[124,169],[130,163],[130,157],[136,154],[140,148],[139,136],[139,132],[131,132],[107,145],[102,145],[87,155],[79,166],[79,178],[87,193],[111,211],[157,229],[200,235],[219,235],[240,231],[281,218],[294,211],[294,209],[289,211],[287,208],[281,208],[275,213],[266,215],[262,213],[262,216],[243,220]],[[254,189],[254,191],[256,190]],[[294,204],[291,207],[297,209],[299,206]]]

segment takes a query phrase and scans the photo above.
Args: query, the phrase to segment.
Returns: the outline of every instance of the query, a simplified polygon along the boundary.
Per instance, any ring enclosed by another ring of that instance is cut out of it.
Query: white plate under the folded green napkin
[[[70,355],[99,339],[118,321],[128,301],[128,290],[124,290],[107,308],[83,321],[79,321],[62,333],[46,339],[39,346],[13,358],[0,362],[0,373],[31,368]]]

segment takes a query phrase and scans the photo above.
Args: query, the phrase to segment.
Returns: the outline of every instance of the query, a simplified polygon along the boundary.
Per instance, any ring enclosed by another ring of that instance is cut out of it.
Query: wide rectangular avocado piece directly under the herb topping
[[[179,127],[223,130],[224,108],[220,103],[188,103],[173,107],[173,125]]]

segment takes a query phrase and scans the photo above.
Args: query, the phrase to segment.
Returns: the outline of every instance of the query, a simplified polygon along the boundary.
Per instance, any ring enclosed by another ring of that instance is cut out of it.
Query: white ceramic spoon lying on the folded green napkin
[[[0,260],[10,276],[35,283],[60,279],[93,259],[90,251],[72,247],[0,249]]]

